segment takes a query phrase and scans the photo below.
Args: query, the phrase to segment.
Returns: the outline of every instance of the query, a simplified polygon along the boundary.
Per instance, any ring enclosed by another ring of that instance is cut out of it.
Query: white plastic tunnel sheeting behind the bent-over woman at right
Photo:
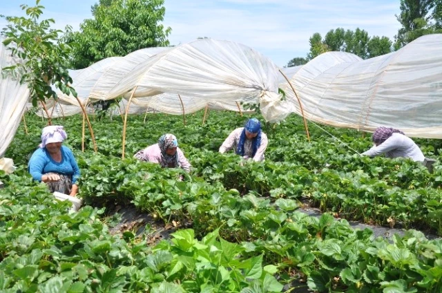
[[[442,35],[426,35],[394,53],[362,60],[324,53],[290,77],[308,120],[374,131],[442,138]],[[287,103],[300,108],[287,82]]]

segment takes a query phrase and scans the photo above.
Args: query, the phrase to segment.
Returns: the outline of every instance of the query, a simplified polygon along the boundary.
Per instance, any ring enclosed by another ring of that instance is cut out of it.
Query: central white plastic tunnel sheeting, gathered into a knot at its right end
[[[237,101],[262,102],[267,120],[281,120],[290,113],[289,108],[278,108],[278,68],[256,50],[231,41],[198,39],[97,64],[73,70],[73,88],[82,104],[132,96],[137,106],[175,115],[207,105],[236,111]],[[57,94],[61,101],[78,106],[74,97]],[[66,110],[65,115],[79,113]]]

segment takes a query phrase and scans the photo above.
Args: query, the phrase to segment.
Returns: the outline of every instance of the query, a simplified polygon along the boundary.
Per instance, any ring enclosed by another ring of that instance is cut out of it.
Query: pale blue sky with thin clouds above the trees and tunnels
[[[54,28],[70,25],[79,30],[92,18],[90,6],[98,0],[41,0],[43,19],[55,19]],[[21,16],[20,5],[35,0],[0,0],[0,15]],[[164,26],[172,28],[171,45],[197,37],[236,41],[258,50],[276,65],[294,57],[306,57],[309,38],[315,32],[361,28],[369,36],[392,41],[400,24],[400,0],[165,0]],[[0,19],[0,28],[6,25]]]

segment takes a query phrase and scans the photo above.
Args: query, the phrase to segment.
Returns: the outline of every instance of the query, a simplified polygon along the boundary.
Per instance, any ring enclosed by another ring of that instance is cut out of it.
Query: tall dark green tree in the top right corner
[[[395,36],[395,50],[422,35],[434,33],[431,11],[435,4],[434,0],[401,0],[401,14],[396,15],[396,19],[402,28],[399,28]]]

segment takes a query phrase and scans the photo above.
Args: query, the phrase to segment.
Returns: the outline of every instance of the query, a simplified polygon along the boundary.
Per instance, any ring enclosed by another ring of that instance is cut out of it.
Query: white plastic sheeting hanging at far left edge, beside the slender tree
[[[0,72],[3,68],[17,63],[10,57],[10,51],[3,46],[2,41],[0,39]],[[26,84],[19,84],[9,76],[0,77],[0,158],[14,138],[29,95]]]

